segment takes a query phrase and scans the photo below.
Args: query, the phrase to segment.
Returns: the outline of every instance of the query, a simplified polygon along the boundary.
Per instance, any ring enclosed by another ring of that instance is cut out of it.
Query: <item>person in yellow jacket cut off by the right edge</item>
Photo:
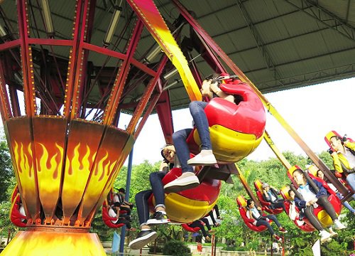
[[[334,151],[330,152],[335,171],[346,176],[346,182],[355,191],[355,142],[349,142],[338,136],[329,139]]]

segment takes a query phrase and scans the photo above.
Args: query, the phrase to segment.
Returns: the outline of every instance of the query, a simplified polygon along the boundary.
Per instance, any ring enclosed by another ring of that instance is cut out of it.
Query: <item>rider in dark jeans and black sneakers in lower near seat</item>
[[[149,175],[152,189],[141,191],[135,196],[141,232],[138,233],[136,239],[129,243],[129,247],[133,250],[141,249],[158,237],[158,233],[151,229],[152,225],[170,223],[165,212],[165,192],[162,180],[168,171],[173,168],[175,147],[172,144],[166,144],[160,153],[164,160],[160,164],[159,171],[155,171]],[[155,198],[155,213],[149,218],[148,199],[151,197],[152,193]]]

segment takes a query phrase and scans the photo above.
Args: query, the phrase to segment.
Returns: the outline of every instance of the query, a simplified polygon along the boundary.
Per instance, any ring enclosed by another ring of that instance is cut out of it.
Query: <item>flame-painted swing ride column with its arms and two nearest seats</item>
[[[241,177],[257,202],[234,163],[263,138],[290,169],[264,131],[265,109],[348,195],[192,12],[178,0],[172,2],[180,15],[175,22],[165,23],[151,0],[0,1],[0,111],[18,184],[11,199],[11,220],[26,227],[1,255],[48,251],[62,255],[68,250],[73,255],[106,255],[97,235],[89,233],[90,225],[153,111],[158,113],[165,140],[172,141],[170,89],[179,81],[169,84],[171,75],[180,75],[188,101],[202,100],[199,86],[207,73],[201,72],[192,50],[204,59],[209,73],[226,74],[221,89],[239,101],[209,102],[206,112],[220,164],[197,174],[202,182],[194,189],[200,193],[167,195],[170,219],[187,223],[206,215],[217,202],[221,180],[228,181],[231,174]],[[97,23],[107,14],[99,11],[107,6],[113,11],[102,24],[106,31],[102,33]],[[72,10],[70,23],[67,19],[53,23],[53,16],[60,17],[53,9],[61,8]],[[185,27],[190,38],[181,38]],[[117,128],[121,113],[131,114],[126,129]],[[197,151],[198,134],[192,134],[189,143]],[[172,172],[165,182],[177,176]],[[19,203],[26,216],[19,214]]]

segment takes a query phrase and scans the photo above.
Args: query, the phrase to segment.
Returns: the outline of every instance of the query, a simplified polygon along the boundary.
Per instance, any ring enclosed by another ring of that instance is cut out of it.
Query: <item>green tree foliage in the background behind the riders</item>
[[[292,152],[284,152],[285,158],[290,161],[290,164],[297,164],[302,169],[305,169],[307,164],[311,164],[310,159],[305,156],[295,155]],[[324,151],[320,153],[320,159],[332,169],[332,158]],[[160,163],[151,164],[148,161],[144,161],[142,164],[133,166],[131,171],[131,183],[129,190],[129,201],[134,203],[134,196],[139,191],[151,189],[149,183],[149,174],[153,171],[158,171]],[[285,167],[278,161],[278,159],[270,158],[264,161],[250,161],[243,159],[239,161],[238,166],[243,174],[246,182],[253,191],[253,181],[260,179],[266,181],[275,188],[281,188],[290,184],[290,180],[286,175]],[[15,185],[15,178],[11,167],[11,159],[9,150],[7,149],[6,142],[0,141],[0,231],[11,230],[15,233],[18,228],[12,225],[9,220],[9,209],[11,192]],[[126,177],[128,169],[123,166],[119,175],[114,182],[114,188],[126,188]],[[225,238],[226,243],[230,246],[234,246],[236,250],[265,250],[271,247],[271,237],[268,232],[256,233],[250,230],[244,224],[242,220],[238,206],[236,203],[236,197],[239,195],[246,196],[246,190],[239,181],[237,176],[232,176],[234,184],[222,183],[222,189],[219,195],[218,205],[221,215],[223,217],[222,225],[216,228],[216,237]],[[351,202],[351,205],[355,207],[355,202]],[[339,232],[337,238],[334,238],[332,242],[322,245],[322,255],[349,255],[354,252],[353,243],[355,238],[355,223],[354,215],[349,213],[346,209],[342,212],[342,221],[346,223],[346,230]],[[136,208],[133,208],[132,215],[134,217],[133,226],[138,227],[138,218],[136,214]],[[285,248],[291,255],[312,255],[312,245],[319,239],[317,232],[305,233],[298,229],[288,218],[285,213],[280,213],[278,220],[288,230],[285,235]],[[186,231],[182,230],[179,225],[163,225],[156,227],[159,234],[158,244],[165,245],[169,240],[182,240]],[[102,222],[101,209],[98,210],[97,215],[92,223],[92,231],[98,233],[102,240],[111,240],[114,230],[108,228]],[[119,232],[119,230],[116,230]],[[4,232],[3,232],[4,233]],[[126,235],[129,236],[129,240],[136,237],[136,233],[129,232]],[[221,241],[221,239],[219,239]],[[241,247],[241,243],[244,242],[245,247]]]

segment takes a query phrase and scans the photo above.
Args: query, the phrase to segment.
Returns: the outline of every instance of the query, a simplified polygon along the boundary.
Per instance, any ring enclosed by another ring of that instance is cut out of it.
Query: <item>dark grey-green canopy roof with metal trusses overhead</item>
[[[38,1],[28,2],[33,16],[40,17]],[[75,1],[49,2],[55,38],[69,39],[72,33]],[[93,44],[102,46],[107,24],[114,12],[112,5],[114,2],[97,1],[91,39]],[[117,4],[120,2],[116,1]],[[355,74],[355,1],[180,0],[180,2],[193,12],[202,28],[263,93],[350,78]],[[0,5],[0,24],[11,31],[14,37],[18,29],[15,3],[16,1],[5,0]],[[178,11],[170,0],[155,0],[155,4],[168,26],[176,23],[179,18]],[[122,1],[121,7],[123,11],[112,41],[116,43],[109,46],[117,51],[125,50],[127,38],[133,30],[133,25],[129,23],[132,16],[129,4]],[[36,23],[32,20],[31,26],[37,26],[35,33],[45,37],[44,23],[40,18],[37,20]],[[184,38],[190,36],[190,27],[183,26],[177,40],[182,42]],[[155,46],[157,44],[153,37],[145,29],[134,58],[143,60]],[[56,46],[53,49],[58,57],[67,60],[67,47]],[[195,62],[200,73],[208,75],[213,72],[195,48],[191,54],[193,58],[196,57]],[[158,61],[158,57],[155,59]],[[95,73],[106,60],[90,53],[89,61],[92,63],[92,73]],[[108,60],[104,71],[109,73],[110,70],[114,70],[117,63],[118,61],[113,58]],[[105,77],[102,72],[99,82],[108,82],[110,76],[108,74]],[[179,79],[176,74],[167,80],[167,84]],[[190,100],[182,82],[171,86],[169,90],[173,109],[187,106]],[[99,87],[92,90],[90,95],[92,99],[95,98],[95,93],[99,93]],[[141,90],[135,90],[129,97],[138,98],[140,95]]]

